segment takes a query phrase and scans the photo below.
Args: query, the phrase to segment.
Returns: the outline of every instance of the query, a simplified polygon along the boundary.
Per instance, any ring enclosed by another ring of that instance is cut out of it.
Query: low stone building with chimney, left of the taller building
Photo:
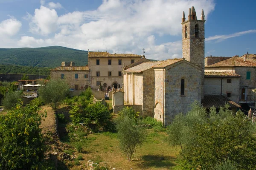
[[[50,70],[51,79],[65,79],[70,88],[85,90],[90,86],[89,67],[75,66],[74,62],[62,62],[60,67]]]

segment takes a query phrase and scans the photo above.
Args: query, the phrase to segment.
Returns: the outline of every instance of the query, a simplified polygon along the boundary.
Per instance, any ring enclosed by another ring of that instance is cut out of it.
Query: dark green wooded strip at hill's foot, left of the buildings
[[[32,67],[20,65],[2,65],[0,64],[0,74],[36,74],[49,75],[50,68],[47,67]]]

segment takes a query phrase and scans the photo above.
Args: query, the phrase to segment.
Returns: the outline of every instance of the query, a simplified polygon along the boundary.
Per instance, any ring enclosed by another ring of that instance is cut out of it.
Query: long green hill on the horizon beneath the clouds
[[[77,66],[87,65],[88,51],[61,46],[41,48],[0,48],[0,64],[55,68],[61,62],[73,61]]]

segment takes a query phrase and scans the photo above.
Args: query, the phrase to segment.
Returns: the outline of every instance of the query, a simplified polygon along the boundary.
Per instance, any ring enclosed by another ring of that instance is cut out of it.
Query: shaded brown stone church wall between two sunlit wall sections
[[[154,90],[154,69],[151,68],[143,72],[143,117],[154,117]],[[138,93],[141,94],[142,91]]]

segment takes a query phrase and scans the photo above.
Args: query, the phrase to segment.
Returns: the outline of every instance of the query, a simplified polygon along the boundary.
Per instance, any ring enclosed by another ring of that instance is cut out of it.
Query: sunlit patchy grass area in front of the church
[[[61,134],[61,142],[73,147],[65,152],[70,154],[76,152],[76,155],[83,157],[79,163],[77,163],[78,160],[75,160],[76,163],[75,161],[65,162],[68,169],[78,170],[88,160],[98,164],[104,162],[108,167],[116,170],[131,170],[131,168],[133,170],[170,170],[171,167],[175,167],[179,148],[169,146],[166,141],[166,132],[154,132],[154,129],[148,129],[145,142],[137,148],[132,161],[129,162],[119,149],[116,133],[88,134],[84,131],[84,127],[76,129],[76,126],[71,123],[59,124],[60,129],[65,127],[70,132]]]

